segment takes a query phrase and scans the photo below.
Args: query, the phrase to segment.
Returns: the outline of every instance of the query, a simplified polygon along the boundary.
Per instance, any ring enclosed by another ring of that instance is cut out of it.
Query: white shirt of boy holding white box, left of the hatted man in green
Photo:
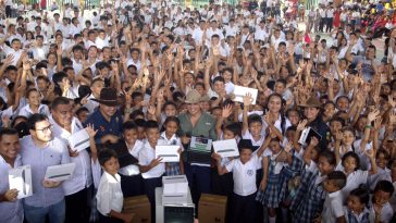
[[[139,165],[149,165],[151,161],[156,159],[156,150],[150,146],[148,141],[145,141],[139,152]],[[144,178],[160,177],[165,173],[165,163],[160,163],[146,173],[141,173]]]

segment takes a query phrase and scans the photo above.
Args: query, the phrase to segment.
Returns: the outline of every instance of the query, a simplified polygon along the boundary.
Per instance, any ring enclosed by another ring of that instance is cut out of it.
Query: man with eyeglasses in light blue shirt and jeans
[[[52,137],[53,126],[45,114],[33,114],[27,120],[30,135],[21,139],[23,165],[32,166],[34,194],[24,199],[28,223],[63,223],[65,219],[64,190],[60,182],[45,179],[48,166],[70,162],[66,145]]]

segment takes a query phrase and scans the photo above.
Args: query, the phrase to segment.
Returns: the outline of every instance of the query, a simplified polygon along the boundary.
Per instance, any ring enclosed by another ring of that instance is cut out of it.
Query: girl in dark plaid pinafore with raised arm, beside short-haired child
[[[336,165],[334,153],[329,150],[321,151],[318,144],[319,140],[312,137],[304,152],[306,169],[290,207],[295,223],[311,223],[320,214],[326,195],[323,182]]]

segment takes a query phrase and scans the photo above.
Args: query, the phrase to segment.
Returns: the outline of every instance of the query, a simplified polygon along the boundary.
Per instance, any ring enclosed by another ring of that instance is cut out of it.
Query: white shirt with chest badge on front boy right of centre
[[[230,161],[225,169],[227,172],[233,172],[236,195],[249,196],[257,191],[256,171],[260,169],[260,161],[256,153],[245,164],[238,158]]]

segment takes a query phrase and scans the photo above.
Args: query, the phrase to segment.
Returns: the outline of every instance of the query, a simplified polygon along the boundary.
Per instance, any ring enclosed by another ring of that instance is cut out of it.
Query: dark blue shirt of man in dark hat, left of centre
[[[120,113],[120,111],[116,111],[113,116],[111,116],[110,122],[108,122],[102,113],[100,113],[99,108],[94,111],[92,114],[90,114],[85,122],[85,125],[92,124],[95,131],[98,131],[98,133],[95,136],[95,141],[97,144],[100,144],[101,137],[112,134],[115,136],[121,136],[122,134],[122,123],[123,119]]]

